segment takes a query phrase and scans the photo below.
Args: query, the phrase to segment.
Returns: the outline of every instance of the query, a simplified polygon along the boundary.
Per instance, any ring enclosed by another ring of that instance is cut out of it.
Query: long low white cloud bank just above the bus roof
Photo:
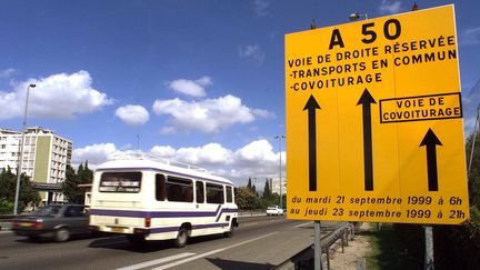
[[[208,143],[202,147],[174,149],[170,146],[156,146],[149,152],[141,154],[150,159],[169,159],[186,162],[207,169],[213,174],[224,177],[237,184],[246,184],[251,177],[263,183],[266,178],[277,178],[279,174],[280,153],[274,152],[268,140],[252,141],[237,150],[230,150],[219,143]],[[113,158],[139,156],[137,151],[120,151],[113,143],[92,144],[73,151],[73,163],[89,161],[90,168],[112,160]],[[284,174],[284,152],[282,158],[282,176]],[[259,184],[257,184],[259,186]]]

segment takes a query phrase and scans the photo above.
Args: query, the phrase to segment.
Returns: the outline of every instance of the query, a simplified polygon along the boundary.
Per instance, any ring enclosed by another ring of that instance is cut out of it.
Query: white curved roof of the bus
[[[127,160],[112,160],[100,164],[96,171],[114,171],[114,170],[156,170],[167,174],[176,174],[180,177],[198,178],[201,180],[210,180],[213,182],[222,182],[233,184],[232,181],[207,173],[206,170],[199,170],[198,167],[182,168],[179,166],[168,164],[144,159],[127,159]]]

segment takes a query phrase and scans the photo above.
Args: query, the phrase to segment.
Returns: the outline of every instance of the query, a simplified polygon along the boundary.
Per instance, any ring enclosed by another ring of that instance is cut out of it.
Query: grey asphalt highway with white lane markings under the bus
[[[303,224],[303,226],[302,226]],[[323,230],[326,231],[326,230]],[[193,238],[183,249],[170,242],[132,248],[123,237],[30,242],[0,234],[1,269],[270,269],[312,243],[312,224],[284,217],[242,222],[232,238]]]

